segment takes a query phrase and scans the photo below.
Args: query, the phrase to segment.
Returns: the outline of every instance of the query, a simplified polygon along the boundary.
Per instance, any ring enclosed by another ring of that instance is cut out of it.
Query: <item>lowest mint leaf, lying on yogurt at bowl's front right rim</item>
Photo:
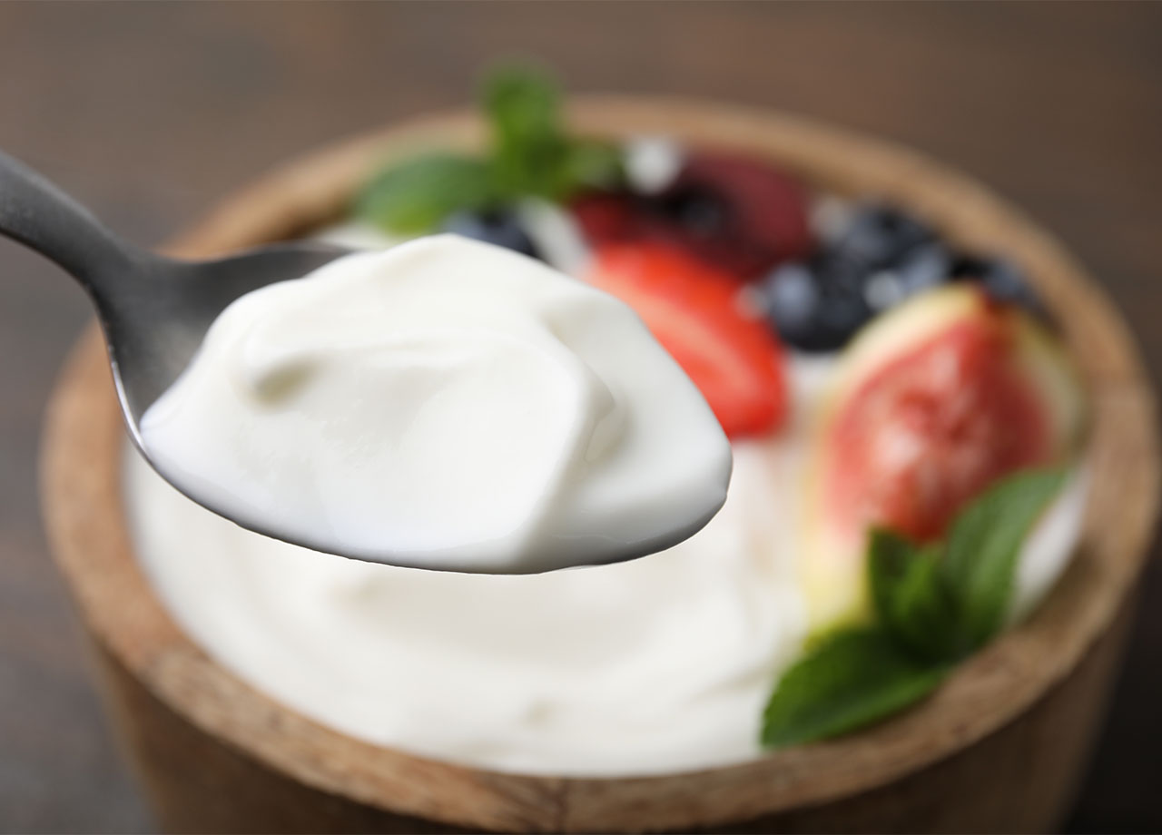
[[[762,744],[812,742],[871,725],[923,699],[947,671],[883,629],[835,633],[783,674],[763,713]]]

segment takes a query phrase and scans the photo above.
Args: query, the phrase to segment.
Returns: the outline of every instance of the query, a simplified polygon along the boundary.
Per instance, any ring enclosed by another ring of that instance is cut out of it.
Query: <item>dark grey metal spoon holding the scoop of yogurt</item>
[[[166,258],[119,238],[72,197],[3,152],[0,235],[55,261],[88,293],[125,426],[155,469],[142,440],[142,415],[185,370],[217,315],[251,290],[301,278],[349,252],[318,243],[288,243],[211,261]],[[180,484],[174,487],[206,505]],[[238,521],[229,508],[206,506]],[[244,526],[286,539],[249,521]]]

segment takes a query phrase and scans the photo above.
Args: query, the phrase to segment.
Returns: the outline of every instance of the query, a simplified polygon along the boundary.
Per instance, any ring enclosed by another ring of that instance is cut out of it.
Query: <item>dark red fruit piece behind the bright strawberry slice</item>
[[[802,186],[766,163],[725,153],[691,154],[655,194],[590,194],[573,209],[595,245],[665,242],[738,279],[811,249]]]

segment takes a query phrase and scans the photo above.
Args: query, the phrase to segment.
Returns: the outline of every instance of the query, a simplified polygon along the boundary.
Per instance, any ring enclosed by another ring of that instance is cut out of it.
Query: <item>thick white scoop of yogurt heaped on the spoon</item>
[[[630,308],[456,236],[237,300],[141,430],[167,480],[245,527],[460,571],[660,550],[710,520],[731,472]]]

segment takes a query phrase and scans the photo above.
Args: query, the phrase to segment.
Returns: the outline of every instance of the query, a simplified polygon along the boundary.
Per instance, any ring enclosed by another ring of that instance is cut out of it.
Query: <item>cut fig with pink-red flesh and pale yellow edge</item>
[[[863,609],[871,526],[941,537],[999,477],[1067,458],[1083,412],[1053,338],[970,285],[916,296],[867,327],[824,404],[804,530],[816,625]]]

